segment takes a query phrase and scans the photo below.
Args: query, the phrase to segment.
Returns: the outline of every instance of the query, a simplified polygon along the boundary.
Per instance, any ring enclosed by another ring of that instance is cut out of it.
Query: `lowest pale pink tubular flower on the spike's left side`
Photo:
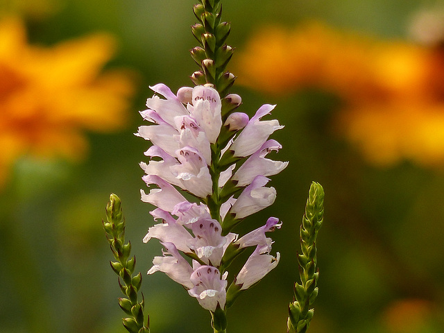
[[[157,271],[164,272],[171,278],[187,289],[194,287],[191,282],[191,274],[193,268],[188,264],[179,253],[178,249],[172,243],[162,243],[166,250],[162,250],[162,257],[154,257],[153,267],[150,268],[148,274],[153,274]]]

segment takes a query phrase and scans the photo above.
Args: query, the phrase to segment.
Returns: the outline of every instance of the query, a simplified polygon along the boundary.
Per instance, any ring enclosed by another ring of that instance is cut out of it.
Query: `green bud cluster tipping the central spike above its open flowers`
[[[231,26],[221,22],[221,0],[199,1],[193,8],[198,23],[191,26],[191,31],[200,46],[190,52],[200,70],[191,75],[191,80],[195,85],[213,85],[221,96],[225,96],[236,79],[225,71],[234,51],[225,44]]]

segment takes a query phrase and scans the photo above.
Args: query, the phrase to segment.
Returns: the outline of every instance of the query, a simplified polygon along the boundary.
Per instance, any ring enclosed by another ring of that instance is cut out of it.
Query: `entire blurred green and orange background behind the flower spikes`
[[[0,0],[0,332],[118,333],[101,229],[119,195],[137,270],[152,210],[135,137],[148,85],[197,69],[192,0]],[[280,264],[228,313],[228,329],[286,332],[310,182],[325,189],[311,333],[444,332],[444,3],[224,0],[231,92],[276,103],[289,167],[275,204]],[[274,253],[274,252],[273,252]],[[240,264],[239,264],[240,265]],[[240,266],[238,265],[238,268]],[[142,286],[152,332],[210,332],[210,315],[162,273]]]

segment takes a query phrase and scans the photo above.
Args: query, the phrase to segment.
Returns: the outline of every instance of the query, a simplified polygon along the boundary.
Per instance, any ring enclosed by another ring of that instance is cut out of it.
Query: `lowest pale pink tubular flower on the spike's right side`
[[[241,285],[241,290],[250,288],[253,284],[264,278],[275,266],[278,266],[280,253],[276,257],[270,255],[271,246],[257,246],[255,252],[250,255],[244,267],[236,277],[236,284]]]

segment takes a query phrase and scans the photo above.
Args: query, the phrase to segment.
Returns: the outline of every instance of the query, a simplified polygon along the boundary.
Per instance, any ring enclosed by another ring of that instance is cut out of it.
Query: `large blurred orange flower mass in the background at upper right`
[[[274,94],[301,87],[345,101],[335,128],[370,162],[444,164],[444,51],[319,23],[266,28],[238,56],[239,83]]]

